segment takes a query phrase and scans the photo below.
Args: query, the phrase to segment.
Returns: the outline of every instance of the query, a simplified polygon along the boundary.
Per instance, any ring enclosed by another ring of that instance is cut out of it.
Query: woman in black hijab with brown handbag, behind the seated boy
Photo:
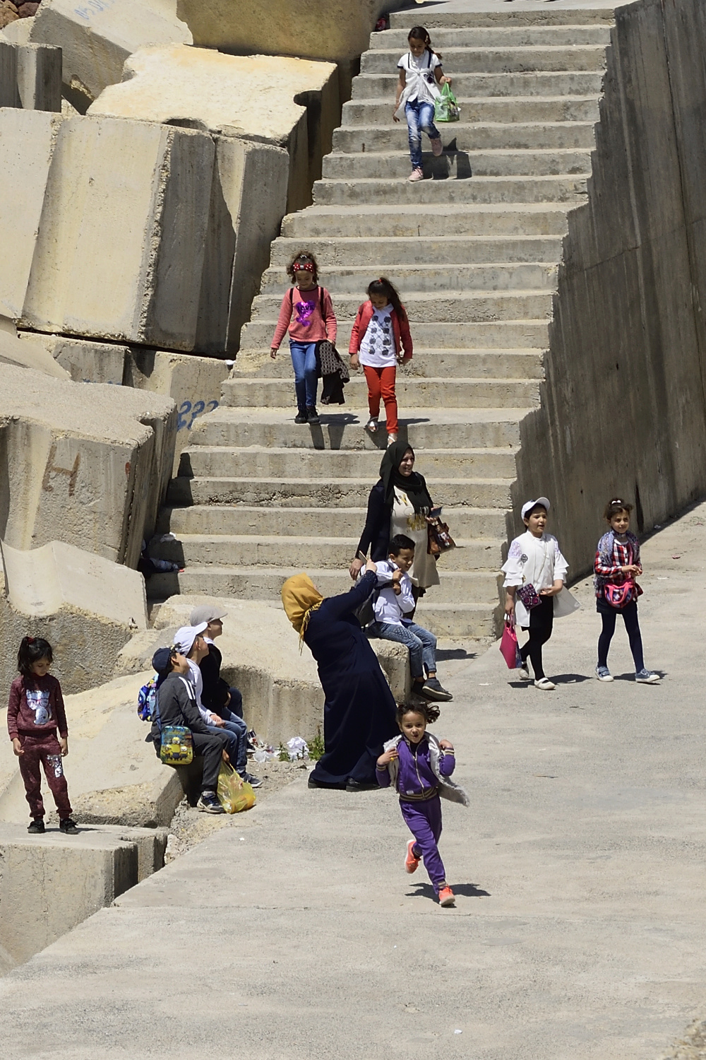
[[[387,546],[395,534],[403,533],[415,544],[414,563],[410,577],[418,589],[439,584],[436,561],[427,551],[427,516],[433,508],[424,476],[414,470],[414,449],[406,442],[394,442],[385,449],[380,464],[380,479],[367,498],[367,515],[358,553],[379,563],[387,559]],[[356,580],[364,561],[350,564],[350,577]],[[421,594],[418,594],[421,595]]]

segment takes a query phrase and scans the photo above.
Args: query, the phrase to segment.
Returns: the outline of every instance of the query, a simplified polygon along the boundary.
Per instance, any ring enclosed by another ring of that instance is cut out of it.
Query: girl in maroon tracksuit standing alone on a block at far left
[[[19,759],[20,775],[30,803],[32,824],[28,832],[44,831],[41,763],[56,802],[59,829],[74,835],[78,829],[71,819],[71,802],[61,762],[69,754],[69,730],[61,686],[49,673],[52,658],[52,646],[48,640],[22,637],[17,653],[20,675],[15,677],[10,689],[7,731]]]

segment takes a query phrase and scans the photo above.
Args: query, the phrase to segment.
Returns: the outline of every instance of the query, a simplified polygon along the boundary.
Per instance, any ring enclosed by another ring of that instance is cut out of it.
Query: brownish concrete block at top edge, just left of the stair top
[[[44,0],[46,2],[46,0]],[[367,48],[385,0],[179,0],[177,12],[194,35],[194,43],[237,55],[302,55],[342,63]],[[411,24],[411,23],[410,23]]]

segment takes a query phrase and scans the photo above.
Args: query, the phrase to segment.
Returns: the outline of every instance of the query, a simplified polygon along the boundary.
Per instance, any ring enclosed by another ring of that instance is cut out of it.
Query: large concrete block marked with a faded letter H
[[[25,550],[59,538],[135,566],[176,419],[160,394],[0,365],[0,538]]]

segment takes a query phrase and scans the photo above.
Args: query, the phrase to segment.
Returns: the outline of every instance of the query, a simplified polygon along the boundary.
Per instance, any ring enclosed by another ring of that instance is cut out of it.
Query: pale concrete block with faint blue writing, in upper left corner
[[[78,110],[120,81],[128,55],[147,45],[192,43],[170,0],[43,0],[31,39],[58,45],[64,84]]]

